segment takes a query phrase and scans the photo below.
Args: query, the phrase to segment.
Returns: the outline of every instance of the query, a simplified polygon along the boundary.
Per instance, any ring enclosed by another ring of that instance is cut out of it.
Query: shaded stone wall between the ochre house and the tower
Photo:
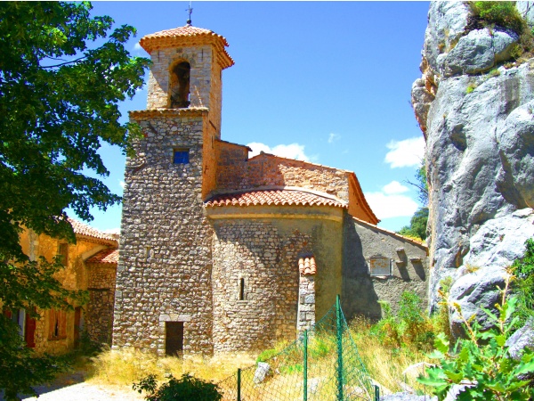
[[[99,343],[111,345],[117,269],[112,265],[90,265],[89,303],[85,307],[85,331]]]

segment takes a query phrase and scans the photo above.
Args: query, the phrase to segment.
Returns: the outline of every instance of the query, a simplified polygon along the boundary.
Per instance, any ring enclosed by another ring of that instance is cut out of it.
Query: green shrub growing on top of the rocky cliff
[[[515,2],[474,2],[472,9],[474,16],[486,25],[512,29],[518,35],[528,30],[526,21],[515,8]]]

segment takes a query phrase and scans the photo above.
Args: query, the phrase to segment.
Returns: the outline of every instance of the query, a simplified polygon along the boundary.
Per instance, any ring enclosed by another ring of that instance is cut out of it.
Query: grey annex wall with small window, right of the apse
[[[396,233],[347,215],[344,222],[344,289],[342,307],[347,319],[382,317],[379,300],[398,311],[401,294],[413,291],[427,305],[428,266],[425,246]],[[370,258],[388,258],[391,274],[371,276]]]

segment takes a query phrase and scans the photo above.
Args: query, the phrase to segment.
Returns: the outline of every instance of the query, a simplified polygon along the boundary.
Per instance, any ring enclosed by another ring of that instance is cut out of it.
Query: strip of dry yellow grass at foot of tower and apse
[[[176,378],[190,373],[198,379],[217,382],[251,364],[255,364],[255,358],[248,354],[158,358],[134,348],[107,350],[92,358],[88,380],[100,384],[132,385],[149,374],[163,380],[169,373]]]

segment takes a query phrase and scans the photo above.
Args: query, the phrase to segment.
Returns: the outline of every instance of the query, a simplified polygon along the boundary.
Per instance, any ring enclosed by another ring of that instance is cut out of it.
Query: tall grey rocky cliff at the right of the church
[[[516,4],[527,20],[530,3]],[[451,276],[451,298],[482,324],[478,307],[495,304],[504,268],[534,236],[534,59],[514,61],[519,40],[473,23],[469,4],[433,2],[412,87],[430,187],[430,303]]]

